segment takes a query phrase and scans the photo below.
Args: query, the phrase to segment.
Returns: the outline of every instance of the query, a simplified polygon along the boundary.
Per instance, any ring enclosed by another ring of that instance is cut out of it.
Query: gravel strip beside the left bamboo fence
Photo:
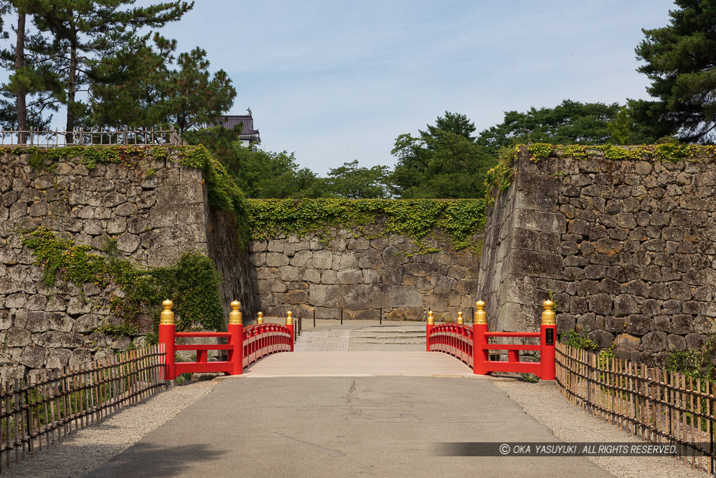
[[[186,406],[206,396],[218,381],[192,382],[153,396],[138,406],[125,408],[102,423],[88,426],[27,457],[10,469],[6,477],[81,477],[122,453],[148,432],[163,425]],[[14,456],[13,456],[14,458]]]

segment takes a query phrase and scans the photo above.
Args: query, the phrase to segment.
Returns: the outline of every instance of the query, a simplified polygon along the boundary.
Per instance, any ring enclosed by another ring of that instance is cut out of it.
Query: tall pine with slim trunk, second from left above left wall
[[[68,131],[87,114],[82,95],[89,85],[117,84],[122,76],[105,75],[102,62],[136,42],[138,29],[163,27],[177,21],[193,7],[193,2],[170,1],[134,7],[135,0],[37,0],[34,24],[41,32],[26,44],[38,64],[52,64],[57,72],[51,90],[63,90],[53,101],[67,106]],[[68,142],[72,135],[68,134]]]

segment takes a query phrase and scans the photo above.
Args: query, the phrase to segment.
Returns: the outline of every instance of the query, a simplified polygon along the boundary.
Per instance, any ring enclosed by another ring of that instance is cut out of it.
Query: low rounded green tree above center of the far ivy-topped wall
[[[355,160],[330,169],[325,183],[330,193],[341,198],[388,199],[390,192],[386,182],[389,177],[387,166],[359,167]]]

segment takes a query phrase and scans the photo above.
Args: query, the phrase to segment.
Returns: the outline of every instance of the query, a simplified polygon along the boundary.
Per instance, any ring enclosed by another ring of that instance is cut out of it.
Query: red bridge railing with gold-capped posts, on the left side
[[[173,303],[165,300],[159,322],[159,343],[166,351],[165,378],[174,380],[182,373],[223,372],[241,375],[243,368],[259,358],[275,352],[294,350],[294,323],[292,313],[286,313],[286,325],[264,324],[259,312],[258,323],[243,327],[241,302],[231,302],[226,332],[177,332],[174,323]],[[178,338],[226,338],[226,344],[178,344]],[[178,350],[195,350],[193,362],[178,362]],[[226,350],[226,360],[209,361],[209,350]]]

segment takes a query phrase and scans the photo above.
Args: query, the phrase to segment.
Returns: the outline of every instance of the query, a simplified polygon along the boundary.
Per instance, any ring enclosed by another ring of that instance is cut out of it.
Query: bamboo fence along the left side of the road
[[[164,355],[151,345],[0,384],[0,469],[160,392]]]

